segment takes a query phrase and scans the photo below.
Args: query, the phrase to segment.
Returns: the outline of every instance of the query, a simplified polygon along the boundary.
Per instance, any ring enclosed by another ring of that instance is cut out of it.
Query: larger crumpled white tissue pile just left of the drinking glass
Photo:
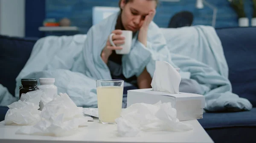
[[[86,126],[91,117],[84,117],[70,97],[60,93],[47,103],[41,112],[41,121],[35,126],[23,126],[16,133],[29,135],[67,136],[76,134],[80,126]]]

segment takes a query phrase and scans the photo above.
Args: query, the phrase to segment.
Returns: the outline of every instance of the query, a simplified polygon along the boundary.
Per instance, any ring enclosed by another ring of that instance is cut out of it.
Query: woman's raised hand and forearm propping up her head
[[[154,15],[156,14],[155,10],[149,12],[149,14],[145,17],[143,25],[140,28],[140,32],[138,35],[138,40],[147,47],[147,35],[148,35],[148,26],[150,22],[153,20]]]

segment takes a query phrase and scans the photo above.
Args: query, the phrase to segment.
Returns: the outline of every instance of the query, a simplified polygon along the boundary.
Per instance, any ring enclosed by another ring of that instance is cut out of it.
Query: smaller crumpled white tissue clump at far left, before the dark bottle
[[[9,110],[5,116],[5,124],[34,125],[41,120],[39,102],[41,90],[22,94],[19,101],[8,105]]]

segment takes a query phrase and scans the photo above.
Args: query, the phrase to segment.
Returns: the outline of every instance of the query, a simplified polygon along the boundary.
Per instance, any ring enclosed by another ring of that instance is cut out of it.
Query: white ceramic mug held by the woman
[[[120,44],[120,45],[115,45],[113,42],[112,37],[115,34],[110,34],[109,36],[109,42],[112,46],[120,46],[122,47],[122,50],[116,50],[116,54],[128,54],[130,53],[131,50],[131,43],[132,43],[132,31],[127,31],[127,30],[122,30],[122,36],[125,37],[125,43],[124,44]]]

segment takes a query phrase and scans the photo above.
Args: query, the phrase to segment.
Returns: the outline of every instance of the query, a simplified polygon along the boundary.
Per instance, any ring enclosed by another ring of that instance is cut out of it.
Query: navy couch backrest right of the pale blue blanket
[[[216,29],[229,66],[233,93],[256,107],[256,27]]]

